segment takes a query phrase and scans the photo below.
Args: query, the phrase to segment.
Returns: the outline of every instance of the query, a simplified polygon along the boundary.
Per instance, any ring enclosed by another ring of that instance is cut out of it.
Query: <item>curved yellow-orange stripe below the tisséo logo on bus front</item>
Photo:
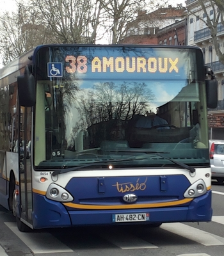
[[[186,198],[174,202],[163,202],[154,204],[125,204],[125,205],[83,205],[83,204],[73,204],[73,203],[63,203],[63,205],[70,208],[78,209],[89,209],[89,210],[109,210],[109,209],[141,209],[141,208],[152,208],[152,207],[165,207],[173,205],[181,205],[191,202],[193,198]]]

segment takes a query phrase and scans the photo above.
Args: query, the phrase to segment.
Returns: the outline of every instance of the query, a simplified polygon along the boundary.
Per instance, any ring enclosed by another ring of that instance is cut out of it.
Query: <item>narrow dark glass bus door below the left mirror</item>
[[[32,109],[21,107],[20,109],[20,202],[22,222],[31,222],[33,211],[32,185],[31,185],[31,127]]]

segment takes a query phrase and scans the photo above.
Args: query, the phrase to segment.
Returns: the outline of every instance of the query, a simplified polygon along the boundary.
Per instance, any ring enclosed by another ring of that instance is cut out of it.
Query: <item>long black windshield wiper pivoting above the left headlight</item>
[[[70,167],[70,168],[67,168],[67,166],[63,166],[63,168],[61,168],[61,169],[54,170],[52,175],[56,176],[56,175],[61,174],[61,173],[73,172],[73,171],[77,171],[81,168],[86,168],[86,167],[90,167],[90,166],[97,166],[97,165],[100,165],[100,164],[120,163],[120,162],[143,160],[143,159],[148,159],[148,157],[135,156],[135,157],[127,158],[127,159],[94,161],[94,162],[89,163],[89,164],[83,164],[83,165],[79,165],[79,166],[76,166],[76,167]]]

